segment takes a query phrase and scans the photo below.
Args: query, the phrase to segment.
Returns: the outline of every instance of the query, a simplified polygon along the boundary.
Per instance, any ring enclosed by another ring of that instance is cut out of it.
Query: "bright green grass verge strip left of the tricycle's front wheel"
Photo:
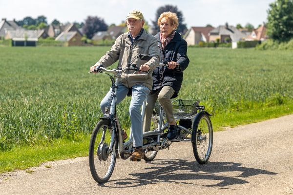
[[[16,169],[24,170],[47,161],[87,156],[89,139],[89,135],[81,137],[78,142],[57,139],[46,146],[19,146],[10,151],[1,152],[0,173]]]

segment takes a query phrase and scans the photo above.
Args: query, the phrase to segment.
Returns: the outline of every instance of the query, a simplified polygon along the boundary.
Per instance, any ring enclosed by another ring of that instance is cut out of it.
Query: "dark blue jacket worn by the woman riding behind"
[[[161,61],[176,61],[180,68],[168,69],[167,66],[158,66],[153,72],[152,92],[160,90],[164,86],[171,86],[175,93],[171,98],[178,96],[183,80],[183,71],[187,68],[189,59],[187,57],[187,42],[181,38],[178,32],[175,32],[174,38],[167,44],[162,51],[162,43],[160,41],[160,33],[155,38],[159,41],[161,48]]]

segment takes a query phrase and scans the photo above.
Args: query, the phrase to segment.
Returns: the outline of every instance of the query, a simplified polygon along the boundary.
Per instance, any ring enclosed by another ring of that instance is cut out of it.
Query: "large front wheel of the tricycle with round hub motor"
[[[116,163],[118,141],[113,135],[113,148],[109,148],[112,129],[109,129],[108,124],[109,121],[100,120],[92,132],[89,143],[89,168],[98,183],[104,183],[111,177]]]

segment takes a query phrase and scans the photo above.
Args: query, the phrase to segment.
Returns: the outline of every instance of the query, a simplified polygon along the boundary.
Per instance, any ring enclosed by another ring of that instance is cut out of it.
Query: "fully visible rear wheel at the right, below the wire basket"
[[[209,116],[205,112],[195,117],[192,130],[192,148],[196,161],[206,164],[212,149],[212,126]]]

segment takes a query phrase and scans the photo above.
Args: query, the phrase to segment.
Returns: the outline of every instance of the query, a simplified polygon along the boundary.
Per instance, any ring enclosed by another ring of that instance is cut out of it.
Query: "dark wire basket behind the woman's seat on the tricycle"
[[[176,99],[172,102],[173,116],[177,119],[189,119],[192,118],[197,113],[197,106],[199,105],[199,100],[184,100]],[[161,104],[157,101],[155,103],[155,116],[159,117]],[[164,112],[164,117],[166,114]]]

